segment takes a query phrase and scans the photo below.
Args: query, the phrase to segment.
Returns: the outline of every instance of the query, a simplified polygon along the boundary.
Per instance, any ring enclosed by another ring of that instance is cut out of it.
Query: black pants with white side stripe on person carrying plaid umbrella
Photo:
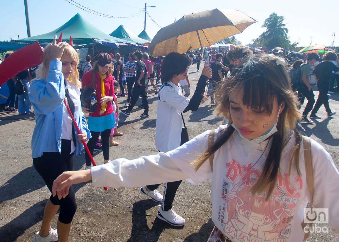
[[[164,183],[164,198],[162,199],[161,209],[163,211],[168,211],[173,206],[173,201],[175,194],[179,188],[179,185],[182,181],[172,181]],[[147,188],[151,191],[156,190],[161,184],[147,185]]]

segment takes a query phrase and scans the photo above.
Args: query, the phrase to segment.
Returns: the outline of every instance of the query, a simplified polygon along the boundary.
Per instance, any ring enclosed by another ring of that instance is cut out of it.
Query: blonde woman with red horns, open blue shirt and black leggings
[[[80,155],[87,137],[91,133],[81,111],[78,54],[65,43],[56,42],[44,48],[43,62],[29,87],[36,125],[32,135],[33,164],[39,175],[52,191],[53,180],[64,171],[74,169],[74,156]],[[72,118],[67,112],[64,100],[82,134],[76,133]],[[57,229],[51,223],[60,208]],[[77,203],[72,186],[64,199],[50,196],[46,203],[40,231],[33,242],[67,242]]]

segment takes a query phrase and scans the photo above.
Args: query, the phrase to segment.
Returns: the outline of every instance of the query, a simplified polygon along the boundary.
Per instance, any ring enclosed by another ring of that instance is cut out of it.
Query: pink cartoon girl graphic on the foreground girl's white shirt
[[[239,241],[247,241],[264,238],[263,241],[271,241],[276,238],[288,238],[290,235],[290,221],[293,219],[293,208],[296,204],[285,204],[281,199],[286,193],[276,186],[271,198],[266,202],[266,193],[251,194],[251,185],[245,183],[239,186],[236,193],[230,193],[227,201],[228,221],[224,232],[230,238]],[[293,197],[300,197],[300,193]],[[292,207],[291,207],[292,206]],[[256,240],[254,240],[256,241]]]

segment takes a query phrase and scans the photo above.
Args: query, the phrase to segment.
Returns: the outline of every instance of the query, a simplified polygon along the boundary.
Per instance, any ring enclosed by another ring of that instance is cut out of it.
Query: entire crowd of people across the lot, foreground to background
[[[305,63],[294,60],[291,68],[296,70],[288,71],[288,61],[279,53],[259,53],[248,46],[210,51],[207,59],[206,54],[198,50],[150,58],[136,51],[129,53],[123,64],[119,53],[99,53],[94,62],[87,56],[78,70],[74,48],[57,43],[55,37],[44,48],[36,77],[29,77],[30,70],[18,75],[27,91],[19,97],[19,102],[23,100],[19,109],[29,113],[28,101],[36,116],[33,164],[51,192],[33,242],[68,241],[77,209],[72,185],[90,180],[98,187],[139,187],[140,193],[161,203],[157,217],[173,226],[186,222],[173,210],[181,181],[199,184],[211,180],[215,227],[209,242],[301,241],[300,214],[308,201],[315,208],[331,211],[329,225],[339,235],[339,192],[336,186],[328,185],[339,182],[339,172],[331,155],[296,129],[312,109],[311,118],[318,118],[322,104],[328,116],[335,114],[328,106],[327,92],[333,73],[339,71],[332,63],[339,64],[337,55],[328,52],[319,62],[318,54],[312,53]],[[189,98],[187,70],[197,64],[198,72],[203,56],[204,67]],[[312,65],[316,65],[313,74],[320,92],[314,108],[308,82]],[[141,96],[140,116],[149,117],[149,81],[158,95],[155,146],[159,153],[112,161],[109,147],[117,145],[113,137],[123,135],[117,131],[117,98],[127,99],[126,109],[120,111],[128,117]],[[81,95],[87,88],[94,92],[85,108]],[[189,140],[183,113],[197,111],[207,96],[226,125]],[[11,98],[6,106],[9,110],[15,106]],[[308,104],[301,114],[303,98]],[[87,119],[84,113],[88,113]],[[72,116],[80,134],[75,131]],[[89,149],[86,167],[74,171],[74,157],[82,151],[83,142]],[[92,167],[91,155],[97,148],[103,152],[103,164]],[[315,171],[312,183],[307,164]],[[163,195],[157,191],[162,183]],[[59,208],[54,229],[51,224]]]

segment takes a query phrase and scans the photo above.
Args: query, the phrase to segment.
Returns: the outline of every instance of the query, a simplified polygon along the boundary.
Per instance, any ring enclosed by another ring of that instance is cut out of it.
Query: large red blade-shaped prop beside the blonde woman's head
[[[0,86],[12,76],[42,63],[43,51],[39,42],[27,45],[9,55],[0,64]]]

